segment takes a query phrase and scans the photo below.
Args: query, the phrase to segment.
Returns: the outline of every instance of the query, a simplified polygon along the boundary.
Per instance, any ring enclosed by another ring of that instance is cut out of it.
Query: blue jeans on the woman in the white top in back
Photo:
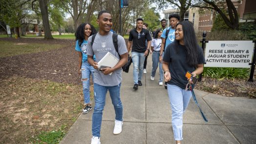
[[[163,79],[164,79],[163,63],[159,62],[159,56],[160,56],[160,51],[153,51],[151,77],[155,77],[155,72],[159,64],[159,74],[160,74],[159,82],[163,82]]]

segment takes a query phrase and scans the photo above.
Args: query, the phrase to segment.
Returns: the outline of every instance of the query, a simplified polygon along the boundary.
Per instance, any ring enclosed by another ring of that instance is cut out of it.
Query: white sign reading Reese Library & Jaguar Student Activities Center
[[[209,41],[205,48],[205,67],[250,68],[253,41]]]

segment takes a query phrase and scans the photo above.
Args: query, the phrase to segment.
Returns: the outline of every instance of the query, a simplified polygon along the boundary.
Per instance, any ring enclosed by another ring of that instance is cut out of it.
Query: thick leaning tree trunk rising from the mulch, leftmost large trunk
[[[47,0],[39,0],[39,6],[43,19],[44,39],[53,39],[49,23]]]

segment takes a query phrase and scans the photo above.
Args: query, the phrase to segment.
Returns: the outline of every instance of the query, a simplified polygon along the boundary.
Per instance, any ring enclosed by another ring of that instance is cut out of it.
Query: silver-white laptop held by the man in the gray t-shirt
[[[114,67],[117,63],[119,62],[119,60],[112,55],[110,52],[107,52],[107,54],[98,62],[98,67],[100,70],[100,67]],[[112,73],[110,73],[109,75],[112,75]]]

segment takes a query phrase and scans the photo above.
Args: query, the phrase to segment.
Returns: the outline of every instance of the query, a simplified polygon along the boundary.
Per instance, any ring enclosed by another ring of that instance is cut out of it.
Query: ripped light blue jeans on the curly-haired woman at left
[[[88,63],[83,62],[81,67],[82,84],[84,93],[84,103],[90,103],[90,75],[92,75],[92,81],[94,77],[94,68]]]

